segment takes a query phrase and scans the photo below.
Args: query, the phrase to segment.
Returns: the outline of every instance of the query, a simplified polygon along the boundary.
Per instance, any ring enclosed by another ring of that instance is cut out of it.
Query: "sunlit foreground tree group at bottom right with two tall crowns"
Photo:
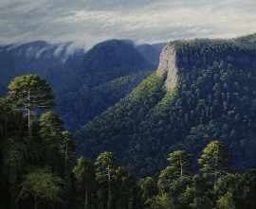
[[[255,170],[231,172],[229,150],[221,142],[211,141],[203,149],[198,172],[192,171],[190,155],[184,150],[172,152],[168,161],[170,165],[160,172],[156,183],[149,177],[141,183],[146,191],[145,208],[255,208]]]

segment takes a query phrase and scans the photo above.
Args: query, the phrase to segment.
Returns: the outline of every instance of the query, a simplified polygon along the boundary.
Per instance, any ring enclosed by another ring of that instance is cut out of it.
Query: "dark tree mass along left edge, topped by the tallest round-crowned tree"
[[[50,86],[35,75],[14,78],[0,98],[1,208],[55,208],[71,200],[74,141],[53,104]]]

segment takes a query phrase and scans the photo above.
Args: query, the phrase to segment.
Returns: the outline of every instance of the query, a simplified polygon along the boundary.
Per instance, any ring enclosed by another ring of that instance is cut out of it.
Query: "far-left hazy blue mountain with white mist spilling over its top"
[[[48,44],[38,41],[27,44],[0,46],[0,72],[2,85],[25,74],[38,74],[46,78],[55,92],[64,88],[64,83],[75,77],[67,68],[67,62],[81,63],[82,48],[73,49],[72,43]]]

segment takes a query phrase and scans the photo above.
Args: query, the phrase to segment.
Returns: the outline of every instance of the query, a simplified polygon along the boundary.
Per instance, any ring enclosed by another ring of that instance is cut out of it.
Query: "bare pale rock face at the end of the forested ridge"
[[[165,85],[167,91],[172,91],[177,84],[177,61],[174,45],[166,45],[160,55],[156,75],[166,77]]]

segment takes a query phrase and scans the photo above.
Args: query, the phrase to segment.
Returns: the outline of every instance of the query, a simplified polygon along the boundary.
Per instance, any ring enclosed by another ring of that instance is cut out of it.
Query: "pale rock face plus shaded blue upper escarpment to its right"
[[[173,42],[162,49],[156,75],[166,77],[166,89],[172,91],[180,77],[189,75],[193,68],[200,72],[214,62],[225,62],[240,69],[255,68],[255,58],[255,49],[232,41]]]

